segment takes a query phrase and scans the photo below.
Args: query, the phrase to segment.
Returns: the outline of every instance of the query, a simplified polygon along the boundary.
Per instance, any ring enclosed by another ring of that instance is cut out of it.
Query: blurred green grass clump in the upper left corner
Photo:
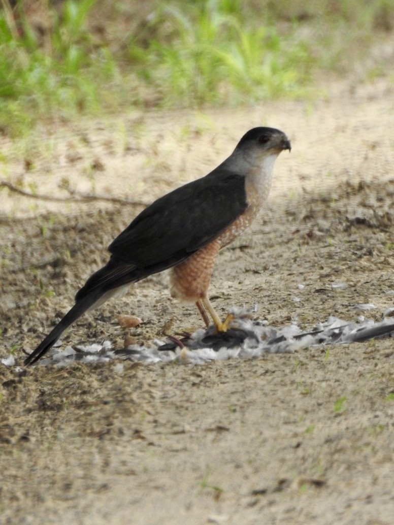
[[[105,48],[95,51],[84,28],[95,0],[66,2],[63,17],[43,39],[19,3],[17,29],[0,13],[0,116],[3,132],[34,127],[38,119],[61,119],[99,107],[99,86],[116,69]],[[4,2],[3,2],[4,4]]]

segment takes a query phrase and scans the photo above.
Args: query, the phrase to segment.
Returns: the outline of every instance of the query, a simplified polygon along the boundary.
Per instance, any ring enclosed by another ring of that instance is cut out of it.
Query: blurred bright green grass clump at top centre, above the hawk
[[[304,41],[281,38],[273,25],[247,26],[226,2],[162,7],[151,20],[149,44],[128,45],[141,81],[170,106],[236,103],[298,96],[313,58]],[[167,21],[167,33],[155,28]]]

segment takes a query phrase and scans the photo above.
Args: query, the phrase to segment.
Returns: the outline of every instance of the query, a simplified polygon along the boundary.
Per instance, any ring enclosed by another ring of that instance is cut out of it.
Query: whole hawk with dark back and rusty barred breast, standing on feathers
[[[172,268],[173,296],[194,301],[205,324],[209,314],[226,331],[208,298],[219,250],[256,217],[271,186],[275,159],[291,150],[286,135],[254,128],[211,173],[177,188],[143,210],[110,244],[111,257],[78,291],[75,304],[25,360],[40,359],[87,310],[96,308],[132,282]]]

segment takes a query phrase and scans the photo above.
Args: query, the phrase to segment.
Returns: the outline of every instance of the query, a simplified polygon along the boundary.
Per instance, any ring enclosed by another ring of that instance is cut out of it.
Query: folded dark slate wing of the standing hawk
[[[245,177],[218,169],[159,198],[112,241],[108,264],[77,295],[103,292],[171,268],[210,243],[247,208]]]

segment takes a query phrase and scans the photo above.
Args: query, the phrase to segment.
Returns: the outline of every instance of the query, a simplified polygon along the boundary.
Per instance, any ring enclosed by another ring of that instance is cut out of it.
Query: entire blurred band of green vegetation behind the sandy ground
[[[346,74],[394,23],[394,0],[0,5],[3,134],[130,106],[306,97],[317,71]]]

